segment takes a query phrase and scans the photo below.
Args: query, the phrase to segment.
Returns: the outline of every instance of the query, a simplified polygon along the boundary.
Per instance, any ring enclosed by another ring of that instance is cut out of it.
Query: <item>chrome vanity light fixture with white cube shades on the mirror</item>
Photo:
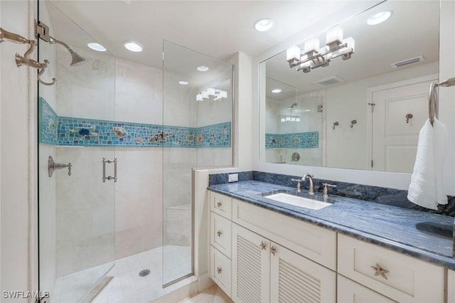
[[[304,43],[303,54],[299,46],[292,46],[286,51],[286,60],[290,68],[304,73],[314,68],[326,67],[334,58],[350,59],[354,53],[355,41],[352,37],[343,39],[343,28],[336,26],[326,33],[326,46],[319,48],[319,38],[311,38]]]

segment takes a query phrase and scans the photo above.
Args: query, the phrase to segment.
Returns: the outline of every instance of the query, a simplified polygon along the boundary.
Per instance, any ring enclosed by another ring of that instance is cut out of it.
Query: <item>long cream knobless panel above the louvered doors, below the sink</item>
[[[232,221],[331,270],[336,270],[336,232],[232,199]]]

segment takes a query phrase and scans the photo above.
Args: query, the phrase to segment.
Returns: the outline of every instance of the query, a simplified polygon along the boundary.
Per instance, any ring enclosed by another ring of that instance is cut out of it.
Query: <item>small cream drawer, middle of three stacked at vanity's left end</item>
[[[231,257],[232,222],[210,211],[210,244]]]

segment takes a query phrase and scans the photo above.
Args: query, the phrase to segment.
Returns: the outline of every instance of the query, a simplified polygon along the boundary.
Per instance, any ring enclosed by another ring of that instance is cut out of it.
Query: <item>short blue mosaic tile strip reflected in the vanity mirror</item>
[[[266,149],[314,149],[319,147],[319,132],[297,132],[294,134],[265,134]]]

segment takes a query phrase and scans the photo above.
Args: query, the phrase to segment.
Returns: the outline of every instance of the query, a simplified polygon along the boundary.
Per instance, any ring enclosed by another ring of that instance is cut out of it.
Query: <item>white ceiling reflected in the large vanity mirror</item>
[[[377,26],[367,25],[370,16],[385,10],[393,11],[389,20]],[[355,53],[350,60],[336,58],[328,67],[303,73],[296,72],[296,68],[289,68],[286,53],[280,53],[266,61],[266,74],[267,78],[287,85],[267,85],[267,97],[279,98],[279,94],[270,92],[276,87],[282,88],[285,99],[291,93],[287,92],[289,89],[294,93],[321,90],[322,87],[314,82],[331,76],[351,82],[439,60],[439,1],[386,1],[350,18],[341,27],[344,37],[352,36],[355,39]],[[325,33],[318,37],[323,46]],[[392,68],[390,65],[419,55],[424,57],[422,63],[401,68]]]

